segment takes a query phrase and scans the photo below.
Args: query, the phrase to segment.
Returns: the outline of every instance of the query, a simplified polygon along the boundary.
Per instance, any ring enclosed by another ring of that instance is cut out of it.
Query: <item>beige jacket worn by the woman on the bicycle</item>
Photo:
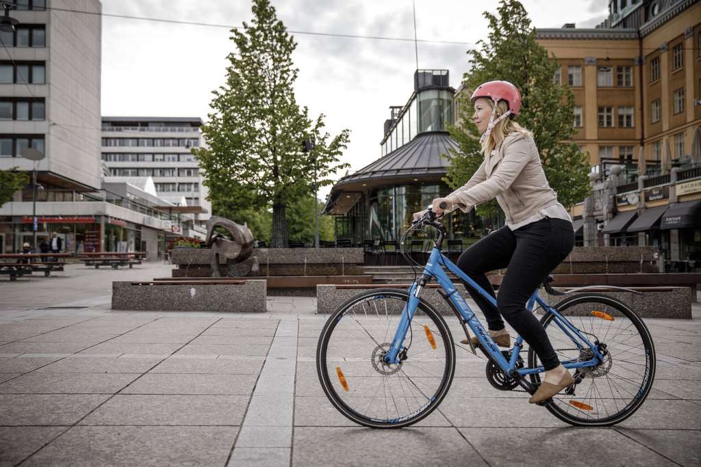
[[[545,179],[536,142],[521,132],[508,134],[501,145],[484,158],[468,183],[448,197],[457,200],[457,207],[463,212],[496,197],[508,225],[559,204],[557,193]]]

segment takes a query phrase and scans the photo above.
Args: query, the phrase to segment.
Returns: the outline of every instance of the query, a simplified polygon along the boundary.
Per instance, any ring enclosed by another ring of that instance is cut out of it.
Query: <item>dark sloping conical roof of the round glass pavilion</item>
[[[407,176],[443,176],[448,171],[450,161],[442,157],[449,149],[460,151],[457,142],[448,132],[426,132],[416,135],[404,146],[384,155],[354,174],[344,176],[336,183],[334,190],[353,183]]]

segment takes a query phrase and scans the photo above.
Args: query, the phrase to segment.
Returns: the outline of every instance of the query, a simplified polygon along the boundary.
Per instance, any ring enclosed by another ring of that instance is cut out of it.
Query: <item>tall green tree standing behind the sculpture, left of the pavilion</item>
[[[312,120],[300,109],[293,85],[297,47],[268,0],[254,0],[254,18],[232,29],[236,50],[229,54],[226,83],[213,91],[212,113],[202,131],[207,147],[193,151],[210,188],[217,214],[272,207],[271,246],[287,246],[285,209],[348,167],[339,162],[348,130],[336,137],[324,132],[323,115]],[[302,141],[316,140],[313,151]],[[232,218],[236,218],[233,216]]]

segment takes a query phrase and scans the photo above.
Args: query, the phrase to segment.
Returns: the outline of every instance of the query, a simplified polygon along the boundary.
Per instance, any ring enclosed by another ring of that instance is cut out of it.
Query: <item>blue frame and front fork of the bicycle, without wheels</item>
[[[402,310],[400,322],[397,326],[397,330],[395,331],[390,351],[388,351],[388,354],[385,356],[386,361],[389,363],[399,363],[399,353],[402,350],[402,344],[404,343],[404,338],[409,330],[411,319],[414,318],[414,313],[416,312],[416,307],[418,306],[420,300],[423,284],[426,284],[426,282],[430,279],[435,279],[443,289],[445,298],[453,303],[455,309],[459,312],[462,319],[472,330],[472,333],[475,333],[477,340],[479,340],[480,344],[482,344],[482,349],[484,349],[488,358],[496,362],[501,370],[503,370],[505,375],[515,377],[517,375],[525,376],[545,371],[543,366],[538,366],[537,368],[516,368],[519,352],[523,347],[523,337],[520,335],[515,340],[510,359],[507,360],[505,358],[504,354],[502,354],[501,350],[499,350],[496,342],[494,342],[494,339],[492,339],[491,335],[489,335],[486,329],[484,329],[484,326],[482,326],[482,323],[479,322],[479,319],[477,319],[475,313],[472,312],[472,309],[470,309],[462,295],[458,293],[453,281],[450,280],[446,272],[443,270],[442,265],[447,267],[450,272],[456,274],[456,276],[461,280],[465,281],[465,284],[468,284],[468,287],[472,288],[474,291],[477,291],[496,308],[496,299],[485,291],[484,288],[480,287],[479,284],[468,277],[468,275],[465,274],[465,272],[463,272],[457,265],[451,262],[451,260],[446,258],[446,256],[444,256],[440,251],[440,248],[434,246],[430,253],[430,257],[428,258],[428,263],[426,263],[426,267],[423,269],[421,278],[414,281],[414,284],[411,284],[411,287],[409,288],[409,301],[407,302],[407,306],[404,307],[404,310]],[[529,309],[530,312],[533,312],[536,303],[540,305],[540,307],[543,307],[546,313],[552,313],[554,315],[554,323],[562,330],[563,333],[565,333],[565,335],[570,337],[572,342],[574,342],[574,344],[580,350],[588,348],[592,351],[593,356],[588,361],[578,361],[577,359],[562,361],[561,363],[565,368],[584,368],[597,365],[603,361],[604,357],[601,355],[599,349],[597,349],[597,346],[590,342],[590,340],[588,340],[583,333],[580,333],[577,328],[572,326],[567,319],[564,319],[564,317],[557,312],[557,309],[547,305],[547,303],[545,303],[545,301],[538,296],[538,289],[533,291],[531,298],[529,298],[528,302],[526,303],[526,308]]]

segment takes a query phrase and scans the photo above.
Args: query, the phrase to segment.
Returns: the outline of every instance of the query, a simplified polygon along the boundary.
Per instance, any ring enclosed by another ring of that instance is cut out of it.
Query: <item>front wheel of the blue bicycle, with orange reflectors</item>
[[[401,428],[426,417],[446,395],[455,371],[453,338],[442,316],[420,302],[405,350],[386,364],[407,291],[381,289],[351,298],[322,330],[317,372],[322,389],[343,415],[371,428]]]

